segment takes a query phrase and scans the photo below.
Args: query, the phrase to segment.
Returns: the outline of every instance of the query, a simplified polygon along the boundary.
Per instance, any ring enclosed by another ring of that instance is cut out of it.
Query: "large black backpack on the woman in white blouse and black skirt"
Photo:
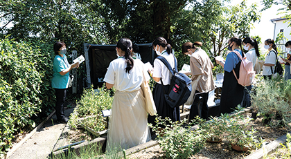
[[[173,55],[174,56],[174,55]],[[164,57],[157,57],[157,59],[161,60],[170,73],[172,73],[173,77],[170,79],[170,88],[168,93],[166,93],[163,81],[161,79],[161,85],[164,89],[165,99],[166,102],[170,105],[170,107],[175,108],[184,104],[188,97],[191,94],[192,86],[191,86],[191,79],[185,75],[184,73],[177,72],[177,59],[175,59],[175,68],[171,68],[170,64]]]

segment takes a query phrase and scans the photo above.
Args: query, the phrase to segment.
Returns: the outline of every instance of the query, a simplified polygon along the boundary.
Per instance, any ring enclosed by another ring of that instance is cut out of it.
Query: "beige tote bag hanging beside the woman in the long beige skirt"
[[[155,115],[157,113],[156,105],[154,102],[154,98],[152,97],[152,91],[150,91],[150,86],[148,86],[148,82],[145,81],[145,75],[143,73],[143,83],[141,84],[141,90],[143,91],[143,95],[145,97],[145,110],[150,115]]]

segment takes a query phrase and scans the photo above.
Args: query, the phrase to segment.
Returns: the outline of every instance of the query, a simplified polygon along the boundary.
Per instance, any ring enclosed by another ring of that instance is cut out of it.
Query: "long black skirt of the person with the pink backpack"
[[[236,64],[234,72],[236,73],[236,77],[239,78],[240,62]],[[221,113],[230,113],[231,111],[234,111],[233,109],[235,109],[238,104],[242,104],[245,90],[242,85],[238,84],[238,80],[236,79],[236,77],[233,75],[233,71],[231,71],[230,73],[224,71],[220,100]]]

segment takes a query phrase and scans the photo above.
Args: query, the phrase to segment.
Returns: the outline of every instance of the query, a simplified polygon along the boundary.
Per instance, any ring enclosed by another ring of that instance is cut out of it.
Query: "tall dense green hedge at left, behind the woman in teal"
[[[13,135],[35,127],[33,116],[53,107],[51,47],[38,41],[0,41],[0,155]],[[48,112],[49,113],[49,112]]]

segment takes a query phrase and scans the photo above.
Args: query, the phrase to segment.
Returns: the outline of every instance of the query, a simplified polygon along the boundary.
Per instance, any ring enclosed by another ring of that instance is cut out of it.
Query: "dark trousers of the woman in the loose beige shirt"
[[[195,91],[196,93],[200,93],[199,91]],[[200,105],[198,105],[197,101],[194,101],[191,109],[190,109],[190,114],[189,114],[189,121],[191,122],[191,120],[193,120],[195,118],[195,116],[199,115],[200,118],[203,118],[205,120],[208,119],[208,106],[207,106],[207,100],[208,100],[208,96],[209,96],[209,92],[207,93],[202,93],[200,95],[201,97],[203,97],[202,102],[200,103]],[[199,107],[198,107],[199,106]],[[200,112],[199,112],[200,111]]]

